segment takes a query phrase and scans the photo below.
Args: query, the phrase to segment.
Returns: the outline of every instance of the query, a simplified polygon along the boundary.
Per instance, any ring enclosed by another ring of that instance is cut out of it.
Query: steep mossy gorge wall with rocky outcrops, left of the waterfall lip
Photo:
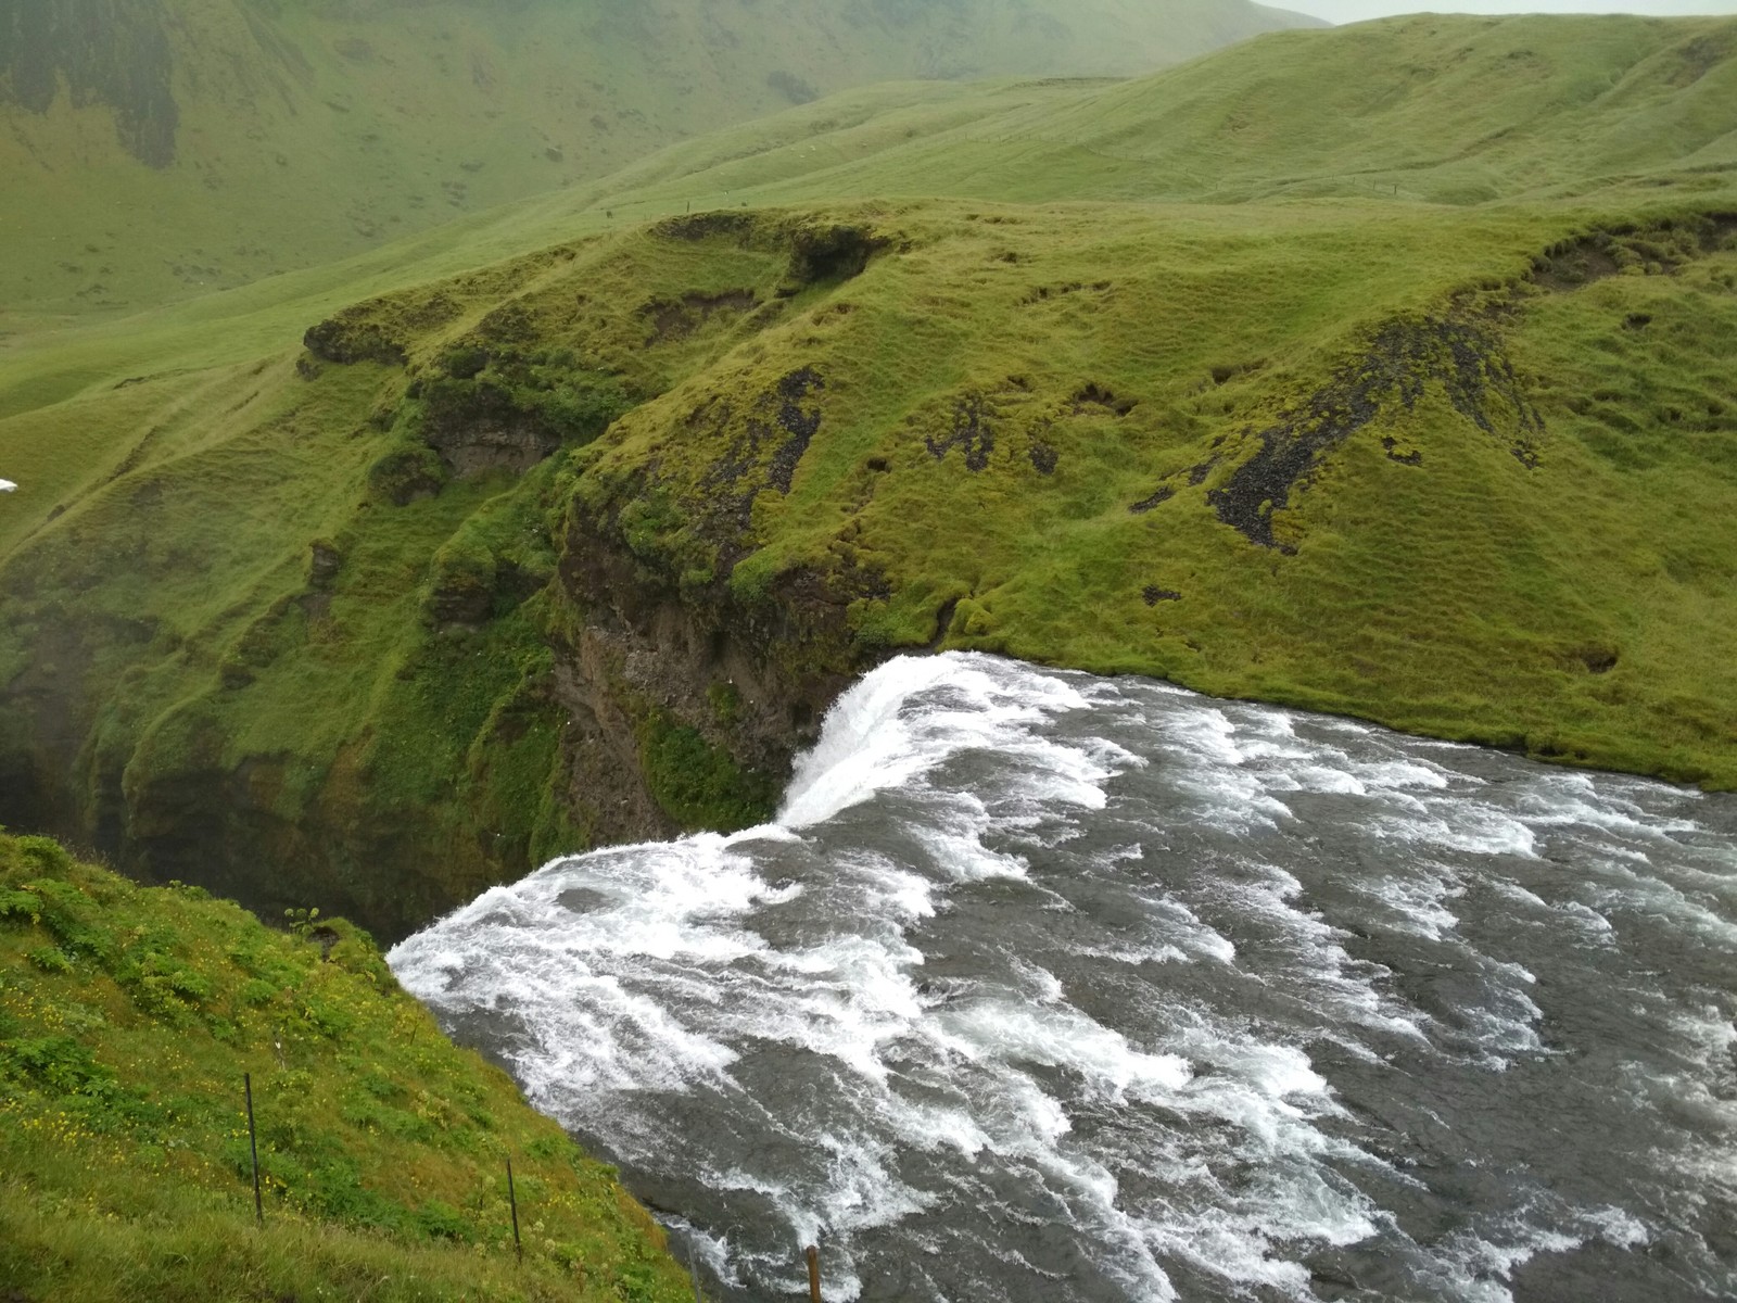
[[[135,460],[189,460],[123,469],[19,554],[5,817],[389,936],[556,853],[766,818],[862,664],[844,598],[697,579],[657,495],[610,497],[587,457],[868,254],[801,217],[653,229],[241,368],[238,426],[160,426]]]

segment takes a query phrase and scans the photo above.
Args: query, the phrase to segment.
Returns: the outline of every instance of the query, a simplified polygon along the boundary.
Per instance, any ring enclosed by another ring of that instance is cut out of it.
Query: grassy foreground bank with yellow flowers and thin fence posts
[[[332,933],[321,962],[195,888],[0,836],[0,1280],[38,1303],[691,1298],[613,1173]]]

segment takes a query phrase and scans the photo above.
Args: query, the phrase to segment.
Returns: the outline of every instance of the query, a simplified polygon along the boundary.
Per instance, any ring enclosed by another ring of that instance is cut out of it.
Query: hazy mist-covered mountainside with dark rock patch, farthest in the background
[[[1136,73],[1301,21],[1247,0],[0,0],[0,304],[137,311],[849,85]]]

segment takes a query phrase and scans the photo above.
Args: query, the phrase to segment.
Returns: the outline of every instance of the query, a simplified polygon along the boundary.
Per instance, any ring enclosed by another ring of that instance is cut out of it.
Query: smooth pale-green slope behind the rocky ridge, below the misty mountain
[[[1126,87],[872,87],[245,294],[52,341],[40,330],[0,332],[0,413],[76,393],[104,372],[123,379],[175,356],[252,356],[358,295],[705,207],[893,195],[1237,203],[1311,195],[1419,203],[1430,195],[1452,203],[1579,196],[1619,208],[1664,189],[1716,205],[1732,177],[1720,151],[1737,137],[1737,96],[1720,94],[1734,63],[1718,52],[1734,40],[1730,19],[1395,19],[1263,36]],[[1381,42],[1393,59],[1377,56]],[[1456,68],[1456,85],[1475,92],[1410,85],[1407,68],[1435,64]],[[1612,90],[1575,106],[1567,87],[1589,82]],[[1346,116],[1343,89],[1365,83],[1379,89],[1367,116]],[[1225,127],[1256,103],[1263,130]],[[1311,137],[1315,146],[1303,148]],[[226,328],[212,330],[215,321]],[[120,353],[134,360],[116,361]]]

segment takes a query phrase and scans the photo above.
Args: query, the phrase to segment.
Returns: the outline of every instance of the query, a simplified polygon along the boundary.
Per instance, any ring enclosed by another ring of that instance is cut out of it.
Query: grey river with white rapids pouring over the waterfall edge
[[[974,655],[391,954],[707,1294],[1737,1298],[1737,799]]]

